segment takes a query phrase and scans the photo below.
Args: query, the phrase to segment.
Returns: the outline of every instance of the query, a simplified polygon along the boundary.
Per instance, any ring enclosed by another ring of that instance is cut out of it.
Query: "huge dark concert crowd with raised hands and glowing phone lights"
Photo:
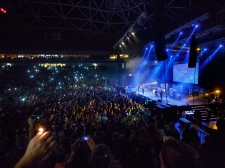
[[[0,167],[225,165],[209,136],[201,144],[195,128],[179,132],[135,95],[105,86],[105,76],[82,65],[1,67]],[[221,137],[224,130],[222,122]]]

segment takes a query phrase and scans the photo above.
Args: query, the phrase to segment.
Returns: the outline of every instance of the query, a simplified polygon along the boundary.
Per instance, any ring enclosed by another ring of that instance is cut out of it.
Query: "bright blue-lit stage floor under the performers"
[[[150,98],[151,100],[158,101],[160,100],[160,97],[156,97],[154,92],[148,92],[145,91],[144,94],[141,91],[137,91],[137,88],[131,89],[133,92],[136,92],[139,95],[145,96]],[[169,96],[163,96],[162,98],[162,103],[169,103],[172,105],[177,105],[177,106],[186,106],[187,104],[189,105],[205,105],[205,99],[199,98],[198,96],[188,96],[188,95],[181,95],[181,100],[175,99],[175,98],[170,98]]]

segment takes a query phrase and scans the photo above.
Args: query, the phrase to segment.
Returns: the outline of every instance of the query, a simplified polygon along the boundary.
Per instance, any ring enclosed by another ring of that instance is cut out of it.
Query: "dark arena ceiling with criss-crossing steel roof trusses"
[[[113,45],[137,24],[139,50],[152,41],[156,0],[1,0],[1,52],[113,52]],[[165,0],[165,32],[225,7],[221,0]],[[214,21],[210,22],[214,24]],[[134,44],[135,46],[135,44]]]

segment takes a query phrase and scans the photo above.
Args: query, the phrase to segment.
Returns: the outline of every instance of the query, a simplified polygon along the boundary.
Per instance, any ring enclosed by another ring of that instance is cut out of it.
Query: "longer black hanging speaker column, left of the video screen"
[[[165,40],[165,10],[163,1],[155,2],[154,12],[154,44],[155,53],[158,61],[164,61],[168,58],[166,53],[166,40]]]

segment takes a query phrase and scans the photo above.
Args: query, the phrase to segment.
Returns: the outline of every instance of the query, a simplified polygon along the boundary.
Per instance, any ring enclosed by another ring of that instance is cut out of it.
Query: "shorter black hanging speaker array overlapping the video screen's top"
[[[198,40],[195,38],[195,36],[192,36],[190,41],[190,52],[188,60],[189,68],[196,67],[197,56],[198,56]]]

